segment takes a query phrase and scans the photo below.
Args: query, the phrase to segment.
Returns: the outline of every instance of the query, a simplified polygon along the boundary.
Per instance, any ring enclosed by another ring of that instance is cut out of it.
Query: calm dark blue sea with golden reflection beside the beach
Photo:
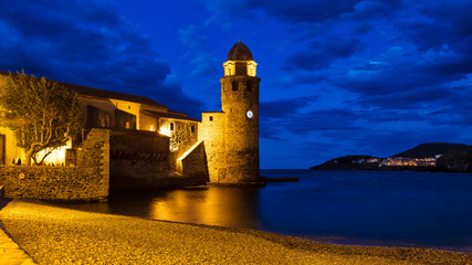
[[[232,227],[340,244],[420,246],[472,253],[472,174],[262,170],[300,182],[264,188],[197,187],[113,194],[71,208]]]

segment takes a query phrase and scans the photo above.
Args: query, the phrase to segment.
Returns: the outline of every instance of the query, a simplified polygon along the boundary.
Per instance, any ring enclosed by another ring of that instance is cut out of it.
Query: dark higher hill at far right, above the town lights
[[[448,142],[429,142],[421,144],[415,148],[402,151],[391,157],[403,157],[403,158],[430,158],[436,155],[444,155],[451,150],[466,150],[472,149],[472,146],[463,144],[448,144]]]

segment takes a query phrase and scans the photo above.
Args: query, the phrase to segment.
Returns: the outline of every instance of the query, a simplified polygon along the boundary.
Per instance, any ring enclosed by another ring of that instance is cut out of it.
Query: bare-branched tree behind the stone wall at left
[[[42,163],[51,150],[64,146],[82,128],[81,103],[61,83],[23,73],[6,76],[0,85],[0,123],[17,137],[25,162]],[[38,152],[45,150],[42,158]]]

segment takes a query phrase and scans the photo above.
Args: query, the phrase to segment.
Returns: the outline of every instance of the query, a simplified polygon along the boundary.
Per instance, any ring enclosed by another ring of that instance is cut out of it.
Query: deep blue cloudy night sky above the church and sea
[[[259,63],[261,168],[472,144],[472,1],[0,0],[0,71],[220,110]]]

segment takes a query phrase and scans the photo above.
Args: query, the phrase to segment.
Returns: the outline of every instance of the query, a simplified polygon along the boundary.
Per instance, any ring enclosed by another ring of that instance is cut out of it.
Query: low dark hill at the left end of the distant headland
[[[371,156],[346,156],[334,158],[329,161],[326,161],[322,165],[310,168],[314,169],[326,169],[326,170],[350,170],[350,169],[376,169],[378,168],[378,162],[368,163],[368,159],[375,159]]]

